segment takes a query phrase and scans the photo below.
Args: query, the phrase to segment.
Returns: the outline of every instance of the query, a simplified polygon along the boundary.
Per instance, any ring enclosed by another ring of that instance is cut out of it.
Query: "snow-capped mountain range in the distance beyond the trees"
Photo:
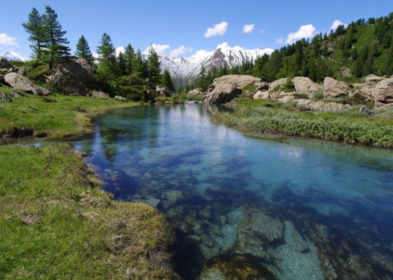
[[[268,48],[248,50],[239,46],[230,47],[227,43],[217,46],[214,51],[197,51],[189,58],[160,56],[161,69],[168,69],[176,84],[190,82],[195,78],[202,66],[207,70],[224,64],[228,68],[241,65],[244,62],[253,62],[264,54],[271,54],[274,50]]]

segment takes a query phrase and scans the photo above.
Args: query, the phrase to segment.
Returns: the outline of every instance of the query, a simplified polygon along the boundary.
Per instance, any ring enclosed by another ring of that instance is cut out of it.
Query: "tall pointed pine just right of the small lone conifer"
[[[99,55],[97,74],[99,79],[107,85],[115,74],[116,56],[111,36],[106,32],[101,37],[100,45],[97,47],[97,53]]]

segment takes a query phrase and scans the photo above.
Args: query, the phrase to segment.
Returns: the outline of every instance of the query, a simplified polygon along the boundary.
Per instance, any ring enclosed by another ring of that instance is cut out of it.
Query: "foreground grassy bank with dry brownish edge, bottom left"
[[[113,201],[71,146],[2,146],[0,162],[1,279],[177,279],[167,220]]]

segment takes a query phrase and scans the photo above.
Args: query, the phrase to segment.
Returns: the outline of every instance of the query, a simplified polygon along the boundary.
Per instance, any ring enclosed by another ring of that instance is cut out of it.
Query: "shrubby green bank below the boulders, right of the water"
[[[367,117],[356,107],[338,113],[314,113],[266,100],[238,99],[231,105],[233,113],[216,113],[214,120],[248,132],[393,148],[393,111]]]

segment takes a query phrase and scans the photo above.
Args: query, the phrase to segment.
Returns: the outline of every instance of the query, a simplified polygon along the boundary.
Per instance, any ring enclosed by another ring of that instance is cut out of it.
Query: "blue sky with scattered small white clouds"
[[[45,5],[56,10],[73,52],[81,34],[94,51],[106,31],[115,47],[131,43],[143,51],[155,44],[162,54],[185,57],[223,42],[279,48],[329,31],[336,20],[350,23],[393,11],[392,0],[0,0],[0,54],[12,50],[29,56],[22,23],[33,6],[43,12]]]

